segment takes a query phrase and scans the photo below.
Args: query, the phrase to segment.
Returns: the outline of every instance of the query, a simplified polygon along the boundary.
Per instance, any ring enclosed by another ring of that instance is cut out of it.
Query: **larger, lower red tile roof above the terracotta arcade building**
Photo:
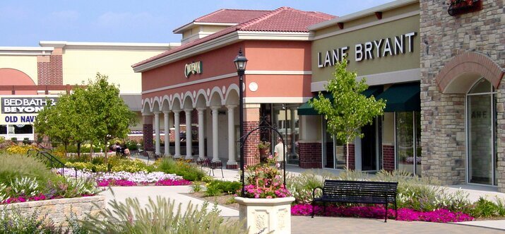
[[[214,13],[217,12],[219,11],[215,11]],[[202,16],[201,18],[211,17],[210,15],[212,14],[213,13],[210,13],[209,15]],[[307,29],[307,27],[309,27],[309,25],[314,25],[322,21],[328,21],[331,20],[332,18],[335,18],[335,16],[331,16],[326,13],[316,11],[299,11],[294,8],[283,6],[275,9],[275,11],[267,11],[267,13],[263,14],[262,16],[253,18],[249,21],[239,23],[238,25],[233,25],[229,28],[225,28],[216,33],[208,35],[207,37],[203,37],[198,40],[188,42],[180,47],[170,49],[169,51],[164,52],[162,54],[158,54],[155,57],[145,59],[142,62],[133,64],[133,67],[140,66],[142,64],[147,64],[148,62],[153,62],[156,59],[160,59],[162,57],[174,54],[184,49],[200,45],[203,42],[214,40],[215,38],[222,37],[223,35],[227,35],[235,31],[308,33],[309,30]]]

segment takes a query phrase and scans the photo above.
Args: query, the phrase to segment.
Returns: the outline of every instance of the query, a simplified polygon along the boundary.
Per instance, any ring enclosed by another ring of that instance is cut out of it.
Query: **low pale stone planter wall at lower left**
[[[43,218],[47,213],[47,218],[50,218],[55,226],[60,223],[67,226],[66,218],[70,217],[70,213],[74,213],[78,220],[83,220],[86,214],[97,215],[105,209],[105,196],[93,197],[76,197],[66,199],[51,199],[44,201],[27,201],[14,204],[0,205],[0,210],[6,209],[13,211],[19,209],[23,215],[28,215],[37,210],[39,218]]]

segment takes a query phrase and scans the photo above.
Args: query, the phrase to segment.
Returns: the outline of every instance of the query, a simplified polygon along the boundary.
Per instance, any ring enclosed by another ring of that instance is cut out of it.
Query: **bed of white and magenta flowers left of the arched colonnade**
[[[65,168],[64,175],[73,177],[76,170]],[[91,172],[89,170],[77,170],[78,177],[93,178],[97,181],[98,187],[107,186],[138,186],[138,185],[189,185],[189,180],[184,180],[182,176],[167,174],[165,172]]]

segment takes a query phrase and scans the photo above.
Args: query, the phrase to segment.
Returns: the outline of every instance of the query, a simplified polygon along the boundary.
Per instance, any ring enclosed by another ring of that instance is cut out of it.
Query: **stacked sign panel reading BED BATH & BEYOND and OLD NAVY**
[[[37,112],[56,105],[57,96],[4,96],[0,98],[0,124],[32,124]]]

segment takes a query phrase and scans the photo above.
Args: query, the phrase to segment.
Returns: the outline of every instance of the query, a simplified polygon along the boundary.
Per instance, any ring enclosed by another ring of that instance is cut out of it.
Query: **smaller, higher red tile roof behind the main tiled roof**
[[[253,18],[257,18],[259,16],[263,16],[266,13],[271,11],[259,11],[259,10],[237,10],[237,9],[220,9],[218,11],[214,11],[213,13],[208,13],[205,16],[201,16],[200,18],[196,18],[191,23],[242,23],[246,21],[250,21]],[[187,23],[186,25],[190,25],[191,23]],[[186,27],[186,25],[182,25],[179,28],[174,29],[174,32],[180,30],[181,28]]]

